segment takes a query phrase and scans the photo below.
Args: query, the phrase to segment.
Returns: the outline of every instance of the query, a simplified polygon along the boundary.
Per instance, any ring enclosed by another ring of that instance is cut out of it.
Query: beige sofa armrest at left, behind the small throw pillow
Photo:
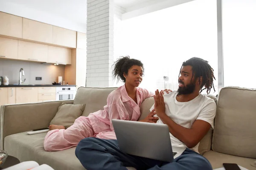
[[[64,102],[73,104],[73,100],[2,105],[0,109],[0,149],[6,136],[48,127]]]

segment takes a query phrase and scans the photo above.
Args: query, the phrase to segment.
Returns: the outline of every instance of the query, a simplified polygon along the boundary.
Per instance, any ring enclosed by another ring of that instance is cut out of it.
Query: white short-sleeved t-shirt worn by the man
[[[195,99],[192,99],[189,102],[178,102],[176,96],[177,91],[173,91],[169,94],[166,94],[165,92],[163,95],[167,116],[178,125],[186,128],[191,128],[195,120],[200,119],[208,122],[213,129],[213,121],[216,114],[216,104],[213,99],[203,94],[199,94]],[[150,111],[153,109],[154,105],[151,107]],[[161,119],[159,119],[157,123],[163,124]],[[172,133],[170,133],[170,138],[172,146],[186,147],[186,145],[175,138]],[[199,143],[191,149],[198,152],[198,146]]]

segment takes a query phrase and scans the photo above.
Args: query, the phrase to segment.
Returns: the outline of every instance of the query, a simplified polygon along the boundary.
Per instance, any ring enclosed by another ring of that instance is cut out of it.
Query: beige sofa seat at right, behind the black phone
[[[204,153],[204,157],[210,161],[213,169],[223,167],[223,163],[235,163],[248,170],[256,170],[256,167],[251,166],[256,159],[228,155],[225,153],[215,152],[213,150]]]

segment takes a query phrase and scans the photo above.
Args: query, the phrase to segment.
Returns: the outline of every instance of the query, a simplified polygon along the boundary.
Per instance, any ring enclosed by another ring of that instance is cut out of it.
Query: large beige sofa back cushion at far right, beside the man
[[[256,90],[222,88],[218,96],[212,150],[256,158]]]

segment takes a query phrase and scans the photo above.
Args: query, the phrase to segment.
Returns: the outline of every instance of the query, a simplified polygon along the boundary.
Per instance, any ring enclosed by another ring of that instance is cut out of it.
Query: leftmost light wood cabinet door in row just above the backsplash
[[[18,40],[0,37],[0,58],[18,59]]]

